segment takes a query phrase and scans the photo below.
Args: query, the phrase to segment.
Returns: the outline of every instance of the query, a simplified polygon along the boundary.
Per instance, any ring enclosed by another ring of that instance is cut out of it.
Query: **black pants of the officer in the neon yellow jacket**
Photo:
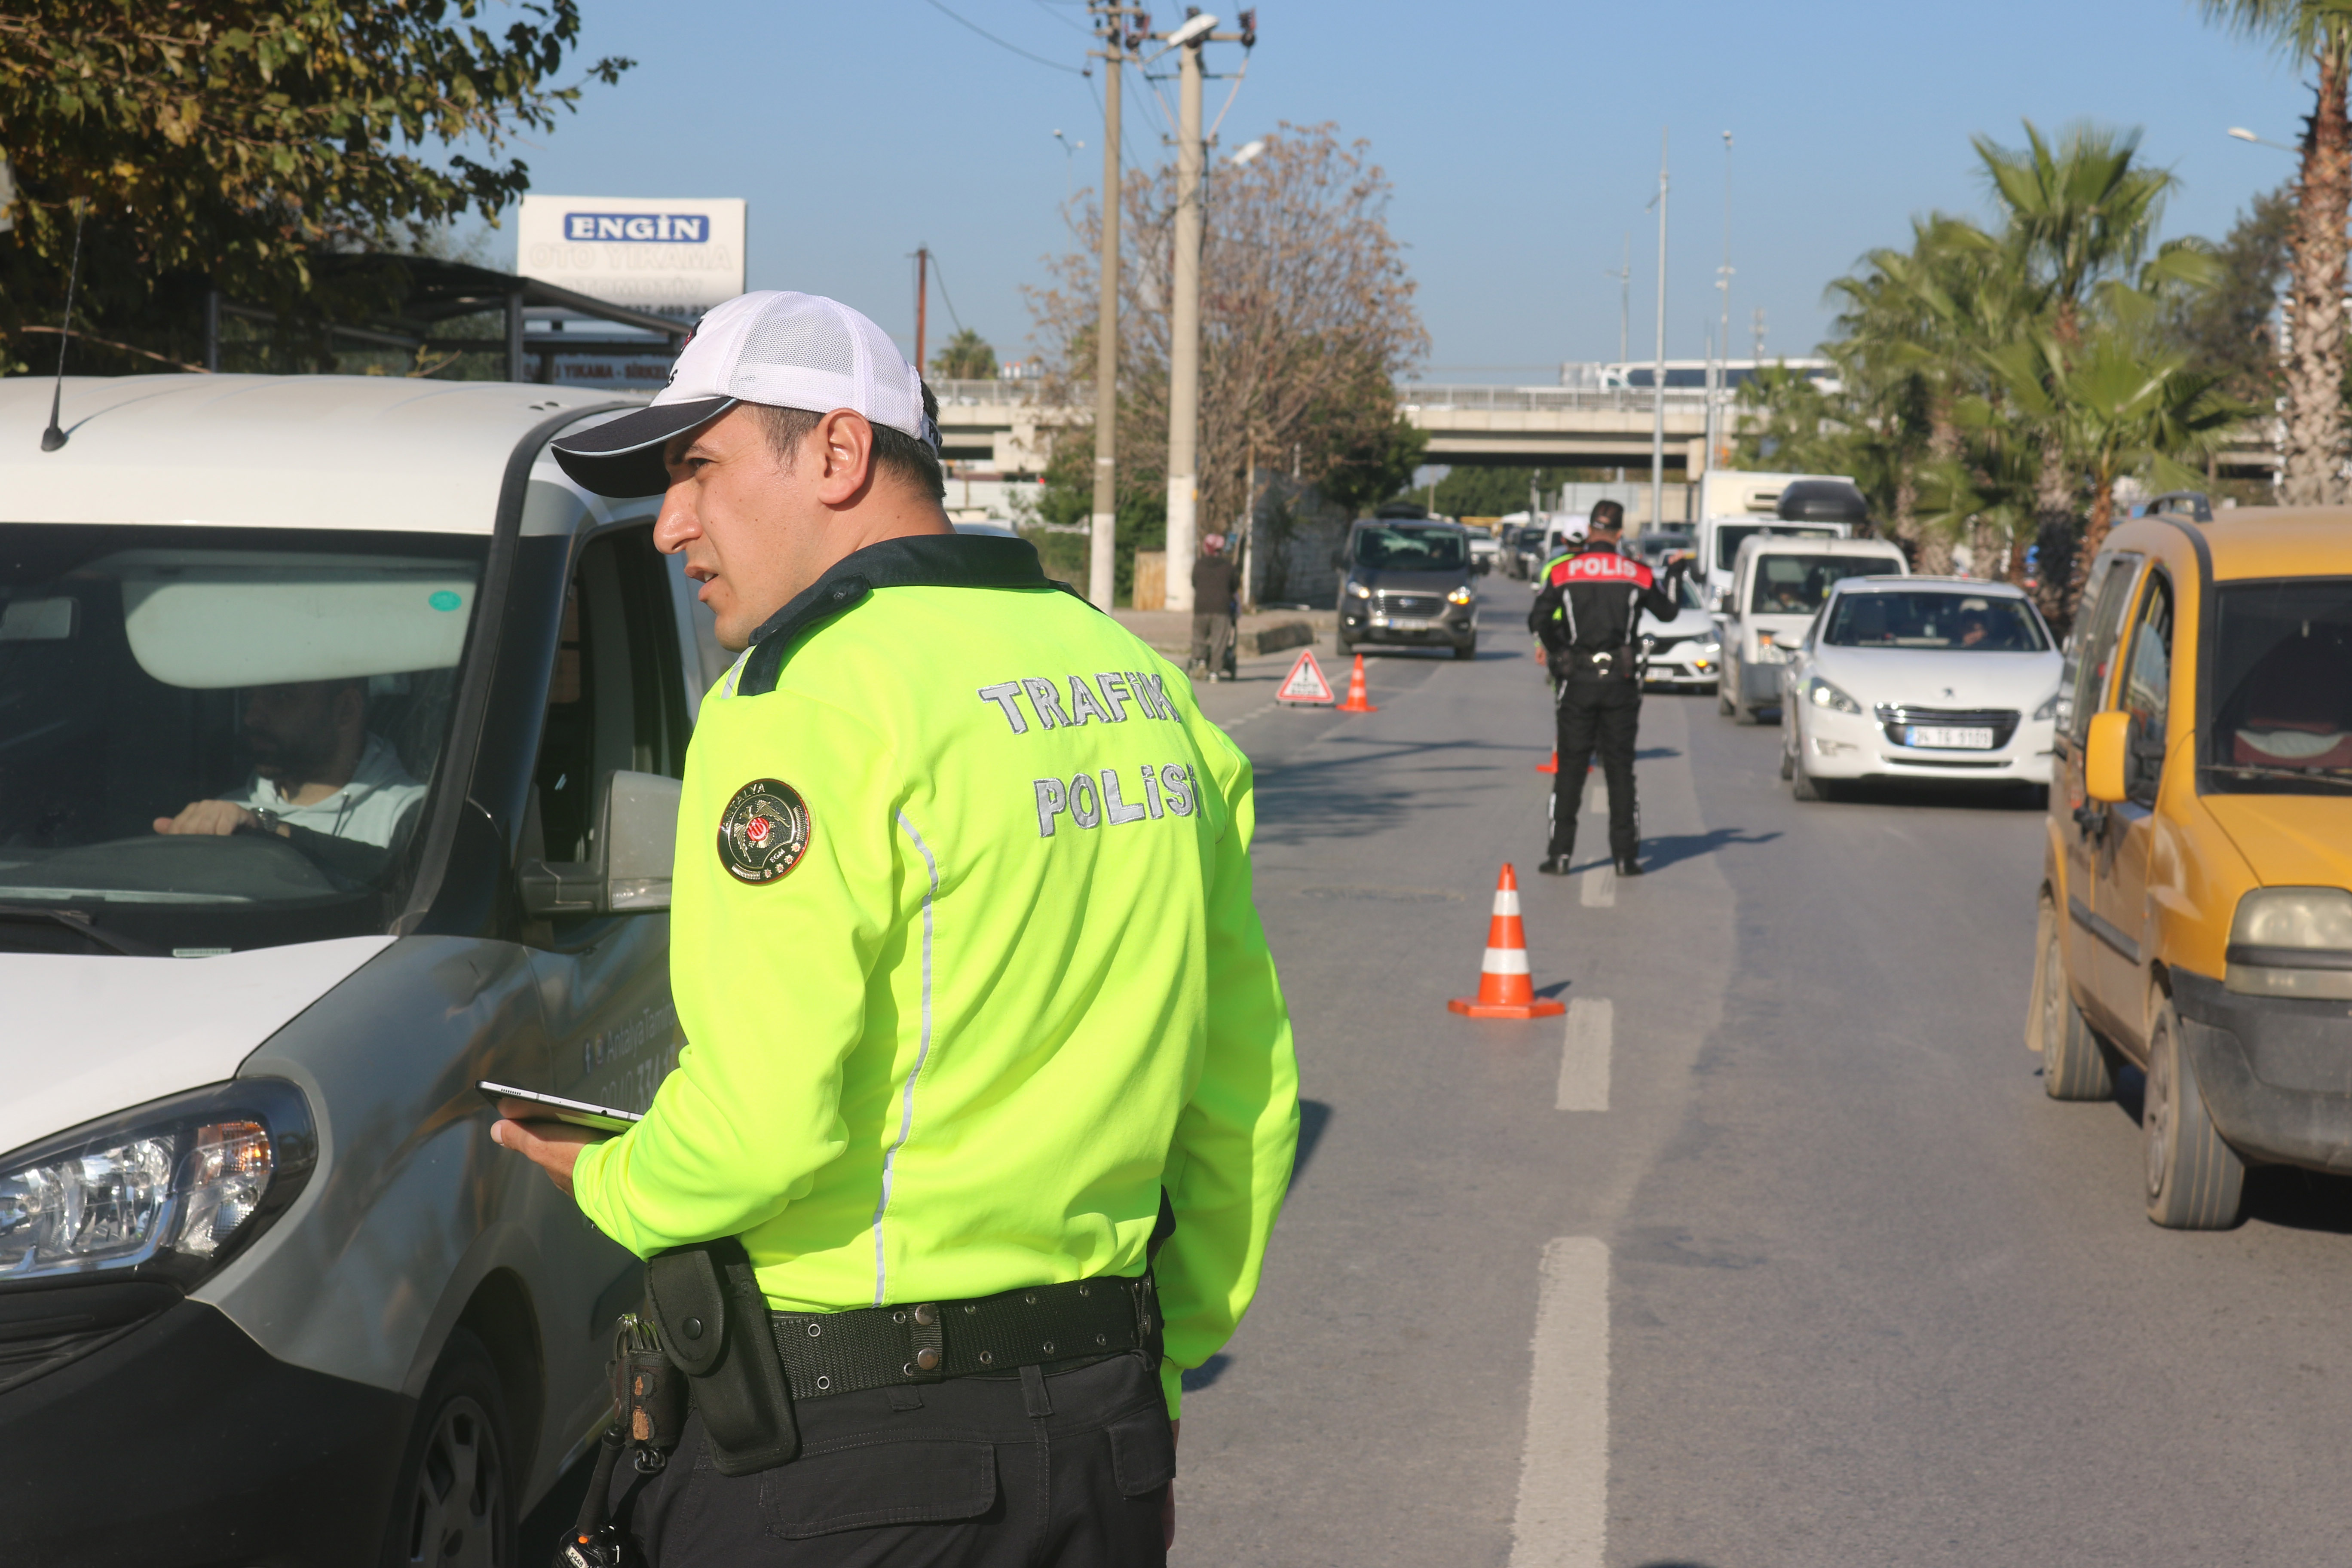
[[[1164,1568],[1176,1474],[1143,1356],[804,1399],[800,1458],[722,1476],[699,1415],[668,1469],[616,1467],[654,1568]]]

